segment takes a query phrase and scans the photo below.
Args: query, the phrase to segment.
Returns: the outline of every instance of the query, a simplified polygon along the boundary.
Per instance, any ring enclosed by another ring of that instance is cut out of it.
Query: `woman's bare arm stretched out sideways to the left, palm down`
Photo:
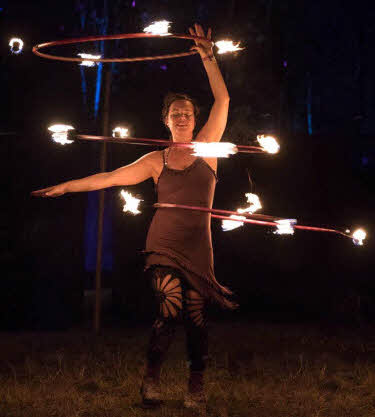
[[[67,181],[52,187],[33,191],[35,197],[59,197],[66,193],[101,190],[120,185],[134,185],[155,175],[158,152],[150,152],[132,164],[111,172],[101,172],[79,180]]]

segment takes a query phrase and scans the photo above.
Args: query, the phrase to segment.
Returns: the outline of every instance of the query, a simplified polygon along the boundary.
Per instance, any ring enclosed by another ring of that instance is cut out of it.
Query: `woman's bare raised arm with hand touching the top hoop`
[[[189,28],[189,32],[191,35],[206,37],[210,41],[196,41],[196,46],[193,46],[192,49],[199,52],[215,99],[208,120],[197,134],[195,140],[201,142],[219,142],[227,125],[229,93],[213,54],[211,29],[208,29],[207,36],[205,36],[202,26],[195,24],[194,29]]]

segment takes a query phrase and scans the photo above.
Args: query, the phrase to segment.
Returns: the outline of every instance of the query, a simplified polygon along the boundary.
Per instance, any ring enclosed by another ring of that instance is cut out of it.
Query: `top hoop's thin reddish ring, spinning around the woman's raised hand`
[[[110,41],[110,40],[117,40],[117,39],[144,39],[144,38],[175,38],[175,39],[190,39],[190,40],[204,40],[208,41],[208,39],[202,36],[192,36],[192,35],[179,35],[179,34],[168,34],[166,35],[154,35],[151,33],[122,33],[119,35],[105,35],[105,36],[87,36],[85,38],[71,38],[71,39],[64,39],[62,41],[52,41],[41,43],[39,45],[35,45],[32,49],[35,55],[38,55],[42,58],[52,59],[55,61],[67,61],[67,62],[82,62],[87,61],[87,59],[83,58],[69,58],[64,56],[57,56],[57,55],[50,55],[39,52],[39,49],[51,47],[51,46],[60,46],[60,45],[70,45],[74,43],[84,43],[84,42],[95,42],[95,41]],[[183,56],[189,56],[197,54],[198,51],[189,51],[189,52],[181,52],[178,54],[168,54],[168,55],[157,55],[157,56],[141,56],[136,58],[90,58],[90,61],[93,62],[136,62],[136,61],[152,61],[155,59],[167,59],[167,58],[180,58]]]

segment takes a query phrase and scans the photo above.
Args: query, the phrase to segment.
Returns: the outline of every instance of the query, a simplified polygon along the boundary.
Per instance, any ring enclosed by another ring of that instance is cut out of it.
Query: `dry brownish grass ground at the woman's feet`
[[[163,368],[166,403],[140,407],[146,327],[2,333],[1,417],[191,416],[184,334]],[[213,323],[208,416],[374,417],[373,328]]]

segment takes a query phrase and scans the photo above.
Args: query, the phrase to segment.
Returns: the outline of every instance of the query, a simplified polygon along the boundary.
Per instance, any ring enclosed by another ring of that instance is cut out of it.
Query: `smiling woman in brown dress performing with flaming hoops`
[[[211,29],[207,36],[198,24],[189,28],[191,35],[206,37],[196,41],[196,50],[207,72],[214,104],[209,118],[195,141],[218,142],[228,116],[229,94],[212,51]],[[163,121],[173,142],[190,142],[198,108],[181,94],[168,95],[164,102]],[[159,203],[178,203],[212,207],[216,185],[216,158],[197,158],[186,148],[169,147],[150,152],[134,163],[112,172],[68,181],[33,192],[35,196],[57,197],[68,192],[92,191],[112,186],[138,184],[153,178]],[[152,220],[146,242],[146,267],[159,307],[147,350],[147,367],[141,395],[145,405],[161,403],[160,370],[173,339],[179,317],[184,318],[190,364],[187,408],[205,410],[203,373],[208,354],[204,317],[206,301],[235,308],[229,301],[231,292],[221,286],[213,273],[213,254],[209,213],[189,212],[177,208],[159,208]]]

